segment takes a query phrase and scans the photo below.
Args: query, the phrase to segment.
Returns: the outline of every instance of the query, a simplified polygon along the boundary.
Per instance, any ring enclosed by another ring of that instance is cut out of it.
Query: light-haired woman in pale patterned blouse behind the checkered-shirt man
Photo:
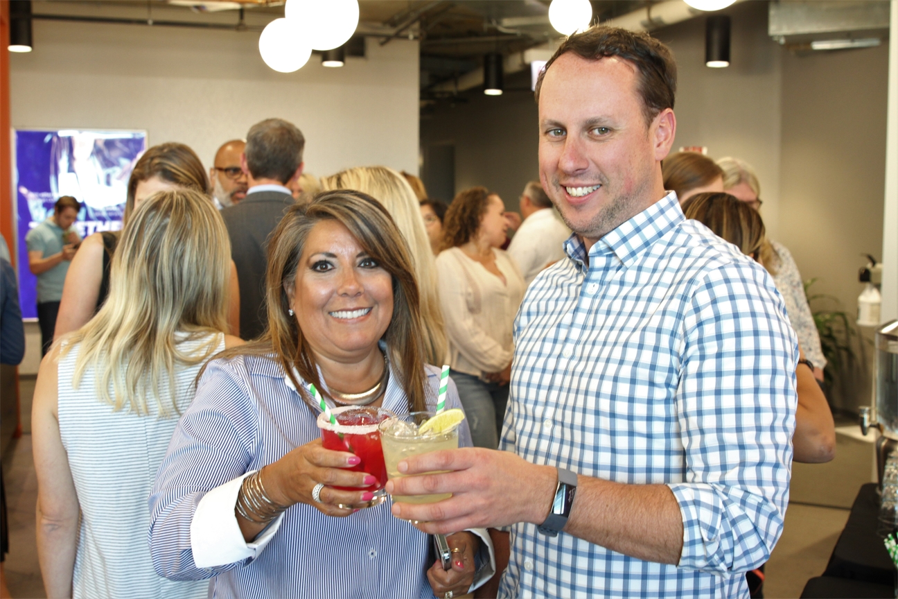
[[[727,156],[718,160],[718,166],[724,172],[724,189],[761,211],[761,183],[752,166],[743,160]],[[826,358],[820,346],[820,334],[814,324],[814,316],[807,304],[805,286],[801,273],[792,254],[782,243],[768,239],[761,250],[760,261],[773,275],[773,282],[786,301],[786,312],[792,328],[798,336],[798,343],[805,350],[807,359],[814,365],[814,378],[823,381],[823,368]]]

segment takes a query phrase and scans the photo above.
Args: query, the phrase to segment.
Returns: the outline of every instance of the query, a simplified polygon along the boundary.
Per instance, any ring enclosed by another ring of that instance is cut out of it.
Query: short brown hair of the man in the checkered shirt
[[[642,111],[647,125],[651,125],[662,110],[674,108],[676,62],[670,48],[645,32],[604,25],[594,25],[561,43],[536,82],[536,101],[540,101],[542,79],[546,72],[559,56],[568,52],[587,60],[621,57],[636,66],[637,88],[642,96]]]

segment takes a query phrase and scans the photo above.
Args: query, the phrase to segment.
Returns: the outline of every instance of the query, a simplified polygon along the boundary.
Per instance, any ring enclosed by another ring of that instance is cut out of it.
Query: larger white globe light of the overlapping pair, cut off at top
[[[345,44],[358,26],[358,0],[287,0],[287,19],[298,23],[315,50]]]

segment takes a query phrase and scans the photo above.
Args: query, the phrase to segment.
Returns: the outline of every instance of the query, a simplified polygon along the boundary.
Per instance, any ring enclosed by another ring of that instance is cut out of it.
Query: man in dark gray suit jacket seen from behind
[[[253,125],[241,156],[249,184],[246,198],[222,210],[240,282],[242,339],[256,339],[268,324],[268,238],[286,208],[294,204],[287,185],[303,174],[304,145],[303,133],[286,120],[265,119]]]

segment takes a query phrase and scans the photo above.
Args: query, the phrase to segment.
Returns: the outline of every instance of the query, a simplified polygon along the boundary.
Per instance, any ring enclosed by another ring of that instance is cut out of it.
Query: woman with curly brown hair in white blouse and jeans
[[[486,188],[465,189],[446,212],[436,258],[440,305],[474,445],[495,449],[505,417],[514,354],[512,328],[524,277],[499,248],[506,240],[505,204]]]

